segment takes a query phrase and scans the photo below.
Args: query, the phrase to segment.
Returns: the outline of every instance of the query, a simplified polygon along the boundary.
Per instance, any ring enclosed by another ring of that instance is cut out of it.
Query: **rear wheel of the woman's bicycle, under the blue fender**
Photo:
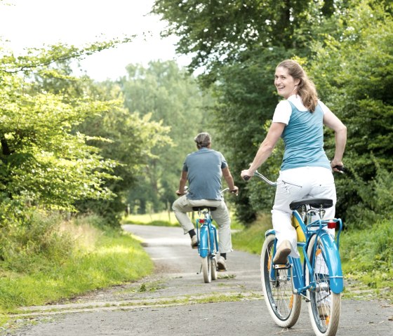
[[[329,287],[329,272],[326,266],[325,246],[317,234],[309,241],[307,256],[314,267],[314,274],[306,270],[306,285],[316,282],[315,290],[309,290],[309,318],[317,336],[333,336],[340,320],[341,295],[333,293]]]

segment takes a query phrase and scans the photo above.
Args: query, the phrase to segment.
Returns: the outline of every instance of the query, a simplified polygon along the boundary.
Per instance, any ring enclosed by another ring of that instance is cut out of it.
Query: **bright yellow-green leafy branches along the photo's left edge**
[[[60,45],[29,50],[18,58],[4,52],[0,58],[0,201],[19,208],[27,204],[73,210],[76,200],[113,196],[102,181],[116,178],[112,175],[116,163],[102,159],[97,148],[87,145],[88,136],[75,128],[116,102],[50,92],[33,79],[77,82],[55,69],[54,63],[100,48],[101,44],[86,50]]]

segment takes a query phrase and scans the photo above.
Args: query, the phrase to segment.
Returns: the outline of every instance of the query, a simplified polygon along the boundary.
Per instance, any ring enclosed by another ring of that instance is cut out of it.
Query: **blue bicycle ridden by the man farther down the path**
[[[221,194],[228,191],[229,188],[223,189]],[[198,254],[202,258],[201,269],[199,274],[204,275],[204,282],[211,283],[217,280],[217,260],[218,255],[218,234],[211,211],[217,208],[213,206],[194,206],[193,211],[197,211],[199,218],[196,219],[196,236],[198,237]],[[203,216],[203,218],[201,218]]]

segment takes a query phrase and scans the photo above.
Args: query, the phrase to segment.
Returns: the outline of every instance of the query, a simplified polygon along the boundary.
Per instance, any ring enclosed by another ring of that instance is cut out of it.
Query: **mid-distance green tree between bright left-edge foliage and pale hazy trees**
[[[102,98],[124,99],[116,83],[98,83],[94,89]],[[114,168],[114,175],[120,179],[106,184],[116,197],[78,202],[77,208],[84,213],[93,210],[107,217],[109,222],[119,224],[130,190],[140,183],[138,175],[146,171],[150,161],[159,159],[157,152],[171,147],[172,140],[168,136],[170,128],[164,126],[162,121],[154,121],[151,113],[141,116],[138,112],[131,113],[124,107],[117,107],[101,116],[86,119],[79,129],[89,135],[111,140],[99,142],[93,138],[89,144],[100,148],[101,155],[106,159],[115,159],[119,163]]]

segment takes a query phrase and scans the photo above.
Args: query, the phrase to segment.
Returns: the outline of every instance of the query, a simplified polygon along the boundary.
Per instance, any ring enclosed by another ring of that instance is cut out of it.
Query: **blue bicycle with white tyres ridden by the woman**
[[[258,171],[254,176],[277,185]],[[273,264],[277,239],[273,229],[265,232],[260,257],[262,291],[269,314],[280,327],[295,325],[303,298],[308,304],[315,335],[333,336],[337,332],[344,288],[339,253],[342,220],[322,220],[324,208],[331,206],[331,199],[302,199],[291,203],[302,262],[300,258],[288,256],[287,264]],[[326,228],[336,229],[335,237]]]

